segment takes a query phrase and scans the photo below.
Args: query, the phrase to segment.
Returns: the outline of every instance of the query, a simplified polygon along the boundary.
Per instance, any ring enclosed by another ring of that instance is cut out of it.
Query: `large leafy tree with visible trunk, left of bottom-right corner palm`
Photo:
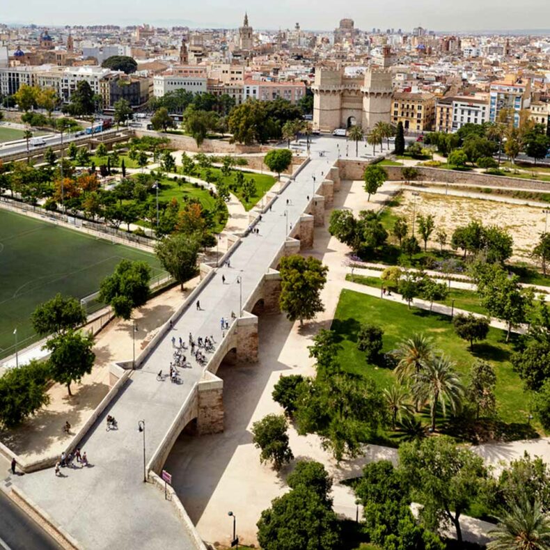
[[[482,457],[441,436],[402,443],[399,459],[412,499],[423,503],[423,524],[439,531],[443,521],[450,521],[462,545],[460,516],[476,501],[487,478]]]

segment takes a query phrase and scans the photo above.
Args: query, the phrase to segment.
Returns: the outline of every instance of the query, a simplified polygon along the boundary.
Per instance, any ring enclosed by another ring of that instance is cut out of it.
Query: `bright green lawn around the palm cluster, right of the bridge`
[[[390,352],[404,338],[414,333],[425,333],[434,340],[457,364],[457,370],[465,375],[473,361],[483,359],[494,365],[497,373],[496,398],[499,415],[505,423],[526,423],[529,397],[523,391],[519,376],[512,370],[510,353],[512,346],[505,343],[505,333],[490,329],[487,340],[475,344],[470,352],[468,343],[455,335],[450,317],[429,313],[405,304],[370,297],[366,294],[343,290],[340,294],[332,329],[340,338],[343,349],[340,364],[349,372],[370,376],[380,387],[393,384],[392,370],[379,368],[366,362],[364,352],[356,347],[356,336],[363,322],[379,324],[384,329],[383,352]]]

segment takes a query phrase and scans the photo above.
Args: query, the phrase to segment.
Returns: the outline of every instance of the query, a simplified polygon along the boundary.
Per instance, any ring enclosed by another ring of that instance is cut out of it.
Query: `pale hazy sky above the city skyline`
[[[21,6],[21,7],[19,7]],[[0,0],[0,23],[135,24],[232,28],[249,13],[257,29],[334,29],[352,17],[360,29],[541,29],[550,26],[550,0]]]

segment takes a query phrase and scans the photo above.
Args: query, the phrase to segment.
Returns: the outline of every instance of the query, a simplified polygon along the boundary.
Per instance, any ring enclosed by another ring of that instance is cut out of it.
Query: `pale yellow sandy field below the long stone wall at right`
[[[533,264],[531,251],[538,236],[544,231],[545,214],[541,208],[427,193],[415,197],[411,191],[403,191],[401,204],[392,208],[392,211],[405,216],[409,228],[412,225],[415,199],[417,216],[432,214],[435,218],[435,230],[432,233],[432,239],[428,240],[428,247],[439,248],[439,244],[434,240],[438,228],[445,230],[450,242],[450,237],[458,226],[465,226],[476,219],[485,226],[494,225],[501,229],[508,229],[514,239],[512,261]],[[416,229],[418,230],[418,225]]]

